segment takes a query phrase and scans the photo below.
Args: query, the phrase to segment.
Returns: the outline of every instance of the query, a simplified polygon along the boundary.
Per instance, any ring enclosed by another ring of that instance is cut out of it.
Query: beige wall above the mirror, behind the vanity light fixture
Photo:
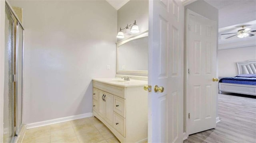
[[[148,0],[130,0],[118,10],[117,18],[118,31],[120,27],[133,24],[134,20],[140,32],[148,30]]]

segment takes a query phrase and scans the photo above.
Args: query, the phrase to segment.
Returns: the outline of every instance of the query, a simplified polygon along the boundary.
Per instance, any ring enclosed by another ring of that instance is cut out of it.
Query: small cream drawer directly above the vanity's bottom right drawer
[[[125,99],[114,96],[114,112],[125,118]]]

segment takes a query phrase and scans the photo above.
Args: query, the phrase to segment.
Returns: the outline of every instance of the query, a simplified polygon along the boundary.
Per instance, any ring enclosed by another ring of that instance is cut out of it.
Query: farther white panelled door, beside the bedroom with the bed
[[[187,134],[216,127],[216,22],[187,10]],[[189,117],[190,115],[190,117]]]

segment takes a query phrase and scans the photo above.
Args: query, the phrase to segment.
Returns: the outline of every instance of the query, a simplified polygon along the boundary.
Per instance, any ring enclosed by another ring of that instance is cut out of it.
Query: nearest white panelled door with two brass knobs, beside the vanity
[[[184,6],[180,0],[149,1],[148,142],[182,142]],[[154,86],[164,92],[154,92]]]

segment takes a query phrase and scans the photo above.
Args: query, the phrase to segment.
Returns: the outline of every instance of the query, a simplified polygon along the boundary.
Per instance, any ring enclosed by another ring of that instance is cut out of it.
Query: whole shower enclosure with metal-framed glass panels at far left
[[[13,142],[22,125],[24,29],[14,10],[5,6],[4,143]]]

